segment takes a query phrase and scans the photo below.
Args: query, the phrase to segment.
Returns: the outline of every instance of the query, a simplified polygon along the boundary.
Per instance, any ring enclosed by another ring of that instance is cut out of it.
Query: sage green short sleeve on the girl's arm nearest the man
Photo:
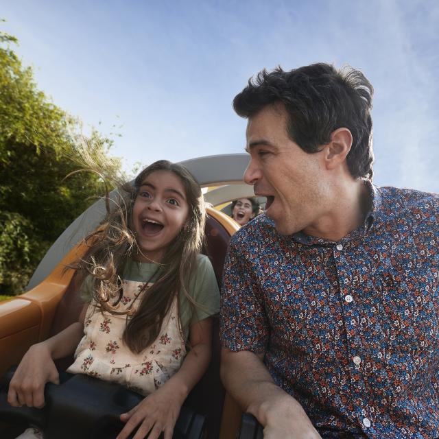
[[[184,294],[180,296],[182,327],[190,327],[219,312],[219,288],[215,272],[204,254],[198,256],[197,267],[189,281],[189,294],[197,305],[192,306]]]

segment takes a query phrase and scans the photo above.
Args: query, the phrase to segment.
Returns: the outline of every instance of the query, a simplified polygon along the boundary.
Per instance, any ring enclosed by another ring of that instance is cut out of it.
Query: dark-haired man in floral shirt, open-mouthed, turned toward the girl
[[[372,185],[372,94],[313,64],[233,102],[267,204],[230,243],[222,379],[265,439],[439,436],[439,198]]]

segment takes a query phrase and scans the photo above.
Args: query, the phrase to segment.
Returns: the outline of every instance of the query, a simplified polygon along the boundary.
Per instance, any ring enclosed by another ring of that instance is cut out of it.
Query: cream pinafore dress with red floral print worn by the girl
[[[150,394],[174,375],[186,355],[185,340],[180,331],[178,297],[174,298],[163,319],[156,341],[141,353],[133,353],[123,343],[127,318],[139,307],[145,283],[123,281],[123,295],[117,311],[102,311],[91,302],[84,322],[84,337],[75,351],[75,361],[67,372],[91,375],[104,381],[114,381],[143,395]]]

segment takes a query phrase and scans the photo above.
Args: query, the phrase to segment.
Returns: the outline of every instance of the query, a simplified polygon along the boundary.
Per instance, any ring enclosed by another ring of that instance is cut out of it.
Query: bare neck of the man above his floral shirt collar
[[[303,233],[328,241],[340,241],[348,233],[364,224],[372,200],[364,181],[352,181],[332,191],[327,213]]]

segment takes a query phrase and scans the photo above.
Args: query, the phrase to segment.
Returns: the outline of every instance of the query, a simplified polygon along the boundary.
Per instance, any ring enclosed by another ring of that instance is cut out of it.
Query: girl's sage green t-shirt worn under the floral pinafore
[[[159,264],[132,261],[128,259],[123,269],[123,280],[134,282],[152,282],[158,276]],[[155,274],[155,275],[154,275]],[[81,298],[84,302],[91,301],[92,277],[87,276],[82,283]],[[219,312],[219,289],[215,273],[209,258],[198,254],[197,265],[189,280],[189,295],[200,305],[193,307],[183,292],[178,296],[180,305],[180,322],[185,331],[185,338],[189,335],[189,328],[196,322]]]

